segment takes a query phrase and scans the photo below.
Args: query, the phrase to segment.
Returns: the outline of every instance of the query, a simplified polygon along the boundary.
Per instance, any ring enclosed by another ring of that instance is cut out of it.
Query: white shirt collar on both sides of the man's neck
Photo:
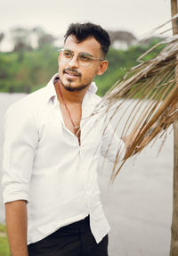
[[[49,83],[47,84],[47,86],[45,87],[46,90],[46,96],[48,101],[51,98],[57,97],[56,95],[56,91],[55,91],[55,87],[54,87],[54,81],[56,80],[56,78],[59,78],[59,74],[55,74],[53,76],[53,78],[51,78],[51,80],[49,81]],[[91,86],[88,87],[88,90],[86,93],[92,93],[95,94],[97,92],[98,87],[96,86],[95,82],[91,83]]]

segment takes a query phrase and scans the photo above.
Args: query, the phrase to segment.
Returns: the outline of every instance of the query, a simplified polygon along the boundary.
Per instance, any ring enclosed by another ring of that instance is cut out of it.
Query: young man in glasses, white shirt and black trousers
[[[106,152],[109,161],[117,153],[122,160],[125,144],[112,137],[105,117],[97,122],[100,113],[89,116],[101,100],[93,78],[107,70],[109,44],[100,26],[71,24],[59,73],[6,112],[3,189],[12,256],[108,255],[97,162]]]

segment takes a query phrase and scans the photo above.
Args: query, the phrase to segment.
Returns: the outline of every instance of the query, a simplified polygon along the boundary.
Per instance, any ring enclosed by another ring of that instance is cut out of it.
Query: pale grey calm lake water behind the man
[[[7,107],[24,94],[0,94],[0,166],[2,165],[3,118]],[[125,102],[125,106],[127,102]],[[117,122],[117,118],[113,124]],[[125,120],[123,120],[124,124]],[[119,129],[119,128],[118,128]],[[112,165],[99,163],[101,201],[109,220],[109,256],[169,255],[173,197],[173,132],[157,157],[161,139],[121,169],[109,185]],[[1,171],[0,171],[1,178]],[[0,185],[0,221],[4,205]]]

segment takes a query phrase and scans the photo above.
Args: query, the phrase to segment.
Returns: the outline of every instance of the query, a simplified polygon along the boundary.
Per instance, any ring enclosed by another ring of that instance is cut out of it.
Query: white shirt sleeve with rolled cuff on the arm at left
[[[3,199],[28,201],[38,132],[31,107],[15,103],[4,116]]]

